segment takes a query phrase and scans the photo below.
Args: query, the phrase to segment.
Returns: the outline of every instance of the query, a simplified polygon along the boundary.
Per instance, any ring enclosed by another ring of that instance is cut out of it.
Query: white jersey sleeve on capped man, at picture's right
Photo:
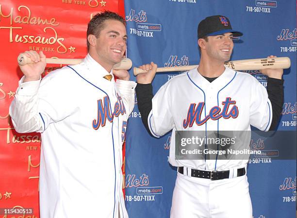
[[[272,121],[272,106],[265,87],[254,79],[249,107],[249,123],[267,132]]]

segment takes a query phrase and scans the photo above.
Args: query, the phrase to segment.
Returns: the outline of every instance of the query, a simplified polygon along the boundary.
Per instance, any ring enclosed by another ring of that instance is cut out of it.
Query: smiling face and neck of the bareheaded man
[[[125,25],[118,20],[105,20],[99,36],[88,35],[89,54],[108,72],[121,61],[126,50],[127,33]]]

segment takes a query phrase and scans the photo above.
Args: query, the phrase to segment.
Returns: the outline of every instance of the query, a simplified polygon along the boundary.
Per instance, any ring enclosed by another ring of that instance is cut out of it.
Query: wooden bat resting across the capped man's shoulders
[[[238,61],[227,61],[224,63],[224,65],[234,70],[258,70],[265,68],[286,69],[291,66],[291,61],[288,57],[257,58]],[[198,67],[198,65],[180,67],[158,67],[157,72],[187,71],[195,67]],[[133,68],[134,76],[146,72],[146,70],[143,70],[138,67]]]

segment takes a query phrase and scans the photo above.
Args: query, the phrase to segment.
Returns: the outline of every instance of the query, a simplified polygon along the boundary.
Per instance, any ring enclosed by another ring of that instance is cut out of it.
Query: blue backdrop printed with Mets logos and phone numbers
[[[278,126],[279,132],[287,133],[273,134],[270,140],[253,134],[251,149],[267,151],[267,155],[251,156],[247,175],[254,218],[296,217],[296,0],[126,0],[125,13],[127,55],[133,67],[151,61],[158,67],[197,65],[197,26],[212,15],[229,17],[233,29],[244,33],[234,39],[231,60],[270,54],[290,57],[291,67],[284,70],[285,98]],[[258,70],[246,72],[266,86],[267,78]],[[179,73],[157,74],[153,92]],[[149,136],[135,97],[126,138],[125,200],[130,218],[170,216],[177,175],[168,163],[170,135]],[[274,152],[269,156],[268,151]],[[275,153],[281,158],[273,158]]]

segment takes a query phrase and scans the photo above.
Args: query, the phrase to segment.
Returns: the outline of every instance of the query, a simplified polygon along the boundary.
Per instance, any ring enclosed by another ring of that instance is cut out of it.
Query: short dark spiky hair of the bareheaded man
[[[88,35],[92,34],[92,35],[95,35],[96,38],[98,38],[101,30],[104,28],[105,20],[118,20],[126,26],[126,21],[123,17],[119,16],[115,12],[104,11],[92,17],[92,19],[88,23],[87,37]],[[88,41],[88,38],[87,38],[87,47],[89,50],[90,43]]]

